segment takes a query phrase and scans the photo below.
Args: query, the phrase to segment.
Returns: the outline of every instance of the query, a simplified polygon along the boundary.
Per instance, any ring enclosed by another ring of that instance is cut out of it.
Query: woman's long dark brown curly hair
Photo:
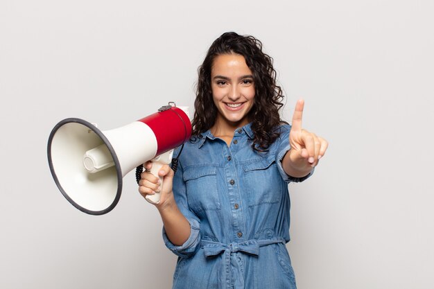
[[[281,88],[276,85],[276,71],[272,66],[272,58],[262,51],[262,43],[251,35],[223,33],[209,47],[205,60],[198,68],[192,135],[198,136],[206,132],[216,121],[217,108],[211,91],[211,67],[214,59],[218,55],[234,53],[243,55],[253,74],[254,105],[248,114],[254,132],[252,148],[266,151],[279,137],[279,125],[286,123],[281,121],[279,116],[284,96]]]

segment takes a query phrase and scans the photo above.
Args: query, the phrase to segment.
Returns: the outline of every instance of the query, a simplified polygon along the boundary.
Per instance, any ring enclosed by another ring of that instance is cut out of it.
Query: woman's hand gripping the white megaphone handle
[[[161,193],[161,198],[158,204],[155,206],[160,210],[164,209],[170,204],[173,204],[173,170],[168,165],[162,166],[158,175],[163,177],[163,184],[159,181],[159,177],[156,177],[150,173],[152,168],[152,161],[146,161],[144,164],[145,171],[141,173],[139,181],[139,193],[146,198],[146,195],[154,195],[155,193]]]

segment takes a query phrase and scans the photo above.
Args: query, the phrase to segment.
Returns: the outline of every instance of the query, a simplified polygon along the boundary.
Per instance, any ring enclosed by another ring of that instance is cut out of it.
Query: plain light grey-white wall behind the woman
[[[193,107],[229,30],[274,58],[284,119],[304,98],[304,128],[330,143],[290,184],[298,287],[433,288],[433,15],[431,0],[1,0],[0,288],[171,287],[176,258],[134,173],[89,216],[55,186],[46,144],[67,117],[107,130]]]

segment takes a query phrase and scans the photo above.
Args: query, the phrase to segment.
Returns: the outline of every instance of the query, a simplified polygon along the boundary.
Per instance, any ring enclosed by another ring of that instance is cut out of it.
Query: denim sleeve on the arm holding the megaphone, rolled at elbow
[[[175,202],[178,209],[180,209],[182,215],[184,215],[184,217],[190,223],[190,236],[184,242],[184,244],[180,246],[173,245],[171,240],[168,239],[166,235],[166,230],[163,227],[163,240],[166,247],[168,247],[168,249],[170,249],[175,255],[186,258],[195,254],[196,249],[198,249],[199,247],[200,221],[199,218],[192,211],[189,210],[189,205],[186,198],[186,185],[184,179],[182,178],[182,175],[182,164],[179,164],[177,172],[173,177],[173,196],[175,197]]]

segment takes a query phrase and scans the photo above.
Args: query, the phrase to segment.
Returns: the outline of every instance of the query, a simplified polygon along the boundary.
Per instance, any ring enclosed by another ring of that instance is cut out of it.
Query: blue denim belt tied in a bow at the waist
[[[222,276],[222,281],[225,281],[226,287],[222,288],[244,288],[244,274],[243,274],[243,264],[241,263],[241,259],[235,258],[234,254],[241,252],[244,254],[250,254],[253,256],[259,256],[259,247],[283,243],[286,241],[284,238],[270,238],[264,240],[246,240],[241,243],[218,243],[210,240],[202,240],[201,245],[204,249],[204,253],[206,257],[218,256],[220,254],[224,254],[224,262],[225,262],[225,270]],[[231,274],[233,274],[233,284],[231,287]]]

